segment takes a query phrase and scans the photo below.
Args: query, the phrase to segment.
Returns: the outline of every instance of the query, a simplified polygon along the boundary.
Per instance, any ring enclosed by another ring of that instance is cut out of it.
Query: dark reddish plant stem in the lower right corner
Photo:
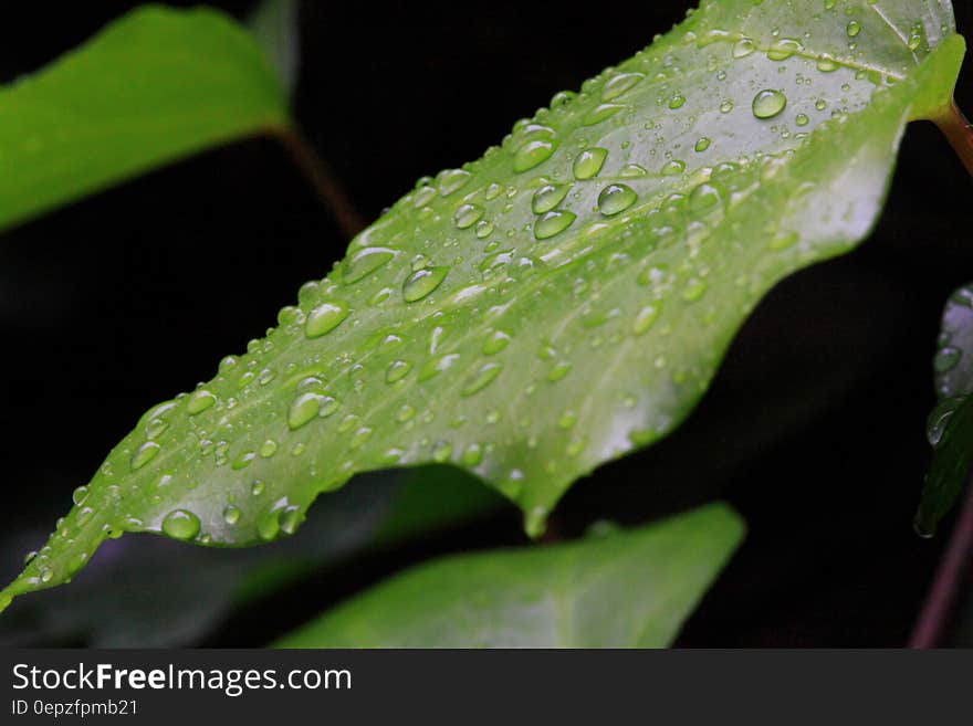
[[[909,648],[929,649],[941,644],[969,572],[973,559],[973,482],[967,484],[966,490],[966,499],[925,596]]]

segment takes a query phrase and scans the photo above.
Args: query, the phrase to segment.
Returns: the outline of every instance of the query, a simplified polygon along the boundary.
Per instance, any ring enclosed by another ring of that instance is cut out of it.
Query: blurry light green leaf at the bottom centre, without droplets
[[[665,648],[743,538],[724,505],[583,541],[461,555],[352,598],[279,648]]]

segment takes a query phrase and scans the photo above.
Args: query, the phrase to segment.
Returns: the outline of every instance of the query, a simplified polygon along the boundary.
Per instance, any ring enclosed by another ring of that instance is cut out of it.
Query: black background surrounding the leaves
[[[648,44],[682,18],[684,3],[307,1],[296,116],[372,220],[419,176],[478,157],[556,91]],[[39,67],[132,4],[4,11],[0,80]],[[238,15],[249,7],[216,4]],[[960,31],[973,32],[973,4],[954,4]],[[973,109],[969,61],[958,98]],[[971,203],[973,182],[945,140],[929,124],[910,127],[871,238],[778,285],[689,422],[579,482],[554,515],[555,534],[726,498],[750,536],[681,644],[903,644],[949,535],[945,526],[922,540],[911,518],[930,457],[924,420],[939,315],[973,278]],[[262,335],[346,243],[264,139],[4,233],[3,532],[50,528],[142,411],[209,378],[223,355]],[[262,644],[405,564],[523,541],[510,513],[369,556],[287,588],[261,618],[238,613],[205,643]],[[12,575],[21,555],[0,553],[0,574]],[[83,644],[83,634],[72,642]]]

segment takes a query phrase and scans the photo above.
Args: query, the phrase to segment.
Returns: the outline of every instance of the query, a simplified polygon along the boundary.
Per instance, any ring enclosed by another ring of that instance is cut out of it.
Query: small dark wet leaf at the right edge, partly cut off
[[[916,514],[916,529],[925,536],[952,509],[973,465],[973,284],[946,301],[932,368],[939,401],[927,435],[933,454]]]

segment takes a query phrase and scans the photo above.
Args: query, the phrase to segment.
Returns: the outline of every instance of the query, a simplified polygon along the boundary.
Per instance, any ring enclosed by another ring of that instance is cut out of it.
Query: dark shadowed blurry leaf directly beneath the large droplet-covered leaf
[[[458,474],[423,467],[356,478],[314,507],[297,536],[270,547],[215,550],[165,537],[113,540],[106,545],[111,551],[79,572],[70,588],[14,602],[0,620],[0,648],[198,644],[254,600],[308,577],[339,575],[356,555],[481,522],[504,504]],[[24,533],[15,533],[0,544],[17,551],[23,540]]]

